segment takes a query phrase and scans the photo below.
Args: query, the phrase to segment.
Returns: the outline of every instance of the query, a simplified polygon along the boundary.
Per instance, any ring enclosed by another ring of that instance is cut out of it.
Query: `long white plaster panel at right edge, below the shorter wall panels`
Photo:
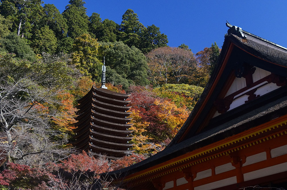
[[[243,174],[244,181],[287,171],[287,162]]]

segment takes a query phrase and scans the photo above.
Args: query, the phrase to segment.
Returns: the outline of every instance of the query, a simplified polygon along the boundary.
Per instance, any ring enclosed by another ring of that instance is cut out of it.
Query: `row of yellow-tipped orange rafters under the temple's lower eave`
[[[212,160],[224,155],[229,155],[241,149],[257,145],[269,139],[279,136],[287,136],[287,116],[280,117],[276,124],[264,124],[257,126],[228,139],[221,140],[206,147],[192,151],[178,158],[172,159],[171,163],[163,163],[150,169],[125,177],[124,182],[133,185],[148,182],[160,176]],[[273,122],[273,121],[272,121]],[[269,126],[268,126],[269,124]]]

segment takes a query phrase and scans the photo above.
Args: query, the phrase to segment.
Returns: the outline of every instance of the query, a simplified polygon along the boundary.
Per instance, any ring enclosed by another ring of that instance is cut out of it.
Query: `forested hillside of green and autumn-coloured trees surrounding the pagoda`
[[[99,173],[161,151],[220,53],[216,43],[196,54],[184,43],[169,47],[160,28],[144,26],[131,9],[115,23],[88,16],[82,0],[70,0],[63,13],[40,0],[0,2],[2,189],[92,189]],[[70,143],[76,100],[100,87],[104,59],[108,89],[131,93],[135,154],[116,161],[77,153]]]

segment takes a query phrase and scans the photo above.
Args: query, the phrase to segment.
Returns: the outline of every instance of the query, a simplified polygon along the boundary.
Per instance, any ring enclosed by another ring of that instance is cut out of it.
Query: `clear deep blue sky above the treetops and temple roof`
[[[69,0],[44,0],[60,12]],[[221,48],[227,33],[226,20],[243,30],[287,47],[287,1],[219,0],[86,0],[87,15],[99,13],[102,20],[121,24],[122,15],[133,9],[145,26],[156,25],[168,36],[168,45],[182,43],[193,53],[210,47],[214,41]]]

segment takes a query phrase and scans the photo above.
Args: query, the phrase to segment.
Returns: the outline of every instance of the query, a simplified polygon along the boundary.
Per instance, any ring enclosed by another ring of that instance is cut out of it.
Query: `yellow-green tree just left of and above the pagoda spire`
[[[85,75],[93,73],[94,78],[100,75],[100,71],[94,73],[93,70],[100,70],[100,66],[102,66],[97,58],[98,47],[98,41],[89,34],[77,37],[73,45],[72,63]]]

